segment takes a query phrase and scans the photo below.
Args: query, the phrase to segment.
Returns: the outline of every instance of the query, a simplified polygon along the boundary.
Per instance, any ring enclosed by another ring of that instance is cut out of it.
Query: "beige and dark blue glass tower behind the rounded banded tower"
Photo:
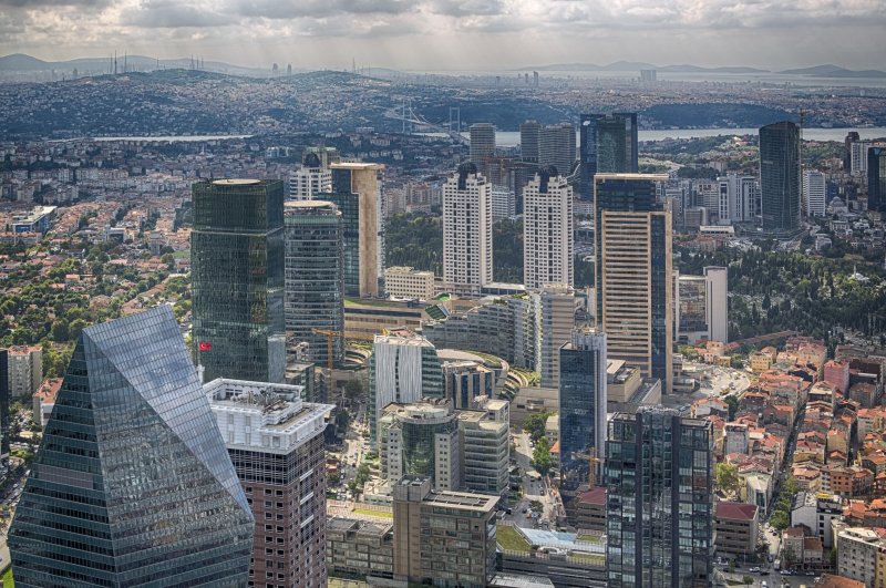
[[[332,193],[319,198],[341,213],[344,235],[344,293],[384,293],[384,209],[382,164],[333,163]]]

